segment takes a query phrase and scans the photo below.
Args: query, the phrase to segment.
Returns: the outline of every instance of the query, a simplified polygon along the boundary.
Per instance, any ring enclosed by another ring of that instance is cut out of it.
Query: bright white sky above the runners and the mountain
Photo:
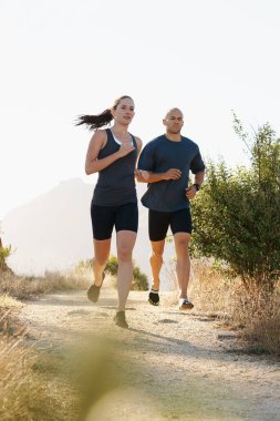
[[[123,94],[144,145],[173,106],[203,156],[248,164],[248,130],[280,133],[278,0],[0,0],[0,220],[84,175],[91,133],[75,127]]]

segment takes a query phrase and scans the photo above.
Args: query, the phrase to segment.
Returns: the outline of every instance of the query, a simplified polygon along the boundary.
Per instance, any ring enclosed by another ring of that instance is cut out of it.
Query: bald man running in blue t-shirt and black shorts
[[[142,197],[143,205],[149,209],[148,230],[152,245],[149,263],[153,284],[148,301],[154,306],[159,305],[159,273],[165,237],[170,227],[180,290],[179,309],[187,310],[194,307],[187,295],[190,270],[188,245],[191,234],[189,199],[196,196],[203,184],[205,165],[197,144],[180,134],[184,125],[180,110],[176,107],[169,110],[163,124],[166,133],[146,144],[141,153],[136,172],[138,182],[148,183],[147,192]],[[191,186],[188,186],[189,171],[195,174],[195,183]]]

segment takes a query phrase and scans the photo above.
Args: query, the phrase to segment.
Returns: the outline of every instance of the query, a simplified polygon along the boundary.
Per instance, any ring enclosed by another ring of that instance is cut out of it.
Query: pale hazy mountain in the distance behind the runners
[[[94,178],[93,178],[94,181]],[[10,212],[2,220],[4,245],[12,245],[9,266],[18,274],[41,275],[44,270],[63,270],[92,257],[90,204],[94,184],[81,178],[61,182],[56,187]],[[138,197],[146,189],[138,184]],[[115,237],[112,240],[115,251]],[[167,246],[166,260],[172,254]],[[147,209],[139,203],[139,232],[134,259],[149,274]],[[163,273],[165,285],[167,277]]]

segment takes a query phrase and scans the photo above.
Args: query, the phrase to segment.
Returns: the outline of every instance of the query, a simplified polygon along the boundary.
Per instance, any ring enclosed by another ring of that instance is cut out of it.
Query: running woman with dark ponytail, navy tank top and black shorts
[[[114,320],[123,328],[128,327],[125,305],[133,277],[132,250],[138,228],[134,175],[142,141],[128,133],[134,114],[134,102],[125,95],[117,99],[111,109],[98,115],[82,115],[76,123],[85,124],[95,131],[86,153],[85,173],[98,173],[91,204],[94,283],[87,291],[87,297],[93,302],[98,300],[115,227],[118,305]],[[112,120],[114,124],[111,129],[97,130]]]

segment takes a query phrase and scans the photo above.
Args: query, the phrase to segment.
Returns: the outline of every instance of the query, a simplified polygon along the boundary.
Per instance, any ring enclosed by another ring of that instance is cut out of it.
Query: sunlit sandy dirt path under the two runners
[[[164,292],[155,308],[147,292],[131,292],[128,330],[113,322],[116,291],[106,285],[97,305],[84,291],[49,295],[25,305],[22,318],[44,348],[75,347],[82,333],[106,332],[118,343],[127,361],[118,367],[122,388],[104,396],[87,421],[280,420],[279,362],[238,352],[235,335],[195,309],[179,312],[170,298]]]

